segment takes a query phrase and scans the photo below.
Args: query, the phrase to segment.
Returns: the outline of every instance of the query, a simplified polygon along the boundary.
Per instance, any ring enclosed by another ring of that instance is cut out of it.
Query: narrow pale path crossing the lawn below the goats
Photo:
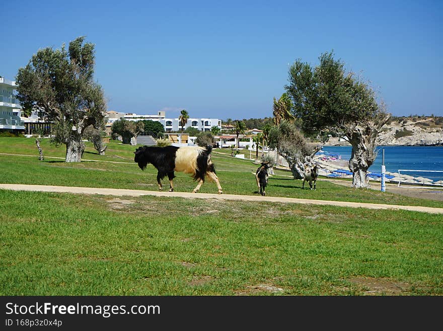
[[[24,185],[24,184],[0,184],[0,189],[44,191],[44,192],[67,192],[67,193],[83,193],[83,194],[104,194],[104,195],[116,195],[116,196],[154,195],[154,196],[175,196],[175,197],[200,198],[200,199],[214,198],[218,200],[268,201],[268,202],[293,203],[293,204],[330,205],[330,206],[353,207],[353,208],[361,207],[369,209],[396,209],[396,210],[409,210],[409,211],[432,213],[432,214],[443,214],[443,208],[353,203],[353,202],[344,202],[344,201],[309,200],[301,198],[261,196],[261,195],[159,192],[159,191],[146,191],[146,190],[121,189],[121,188],[94,188],[94,187]]]

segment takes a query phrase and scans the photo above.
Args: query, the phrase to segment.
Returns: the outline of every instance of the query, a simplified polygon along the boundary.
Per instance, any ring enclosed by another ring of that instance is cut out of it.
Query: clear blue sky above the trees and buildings
[[[393,115],[443,116],[443,1],[15,1],[0,75],[39,48],[96,45],[108,110],[220,119],[272,116],[297,59],[333,50]]]

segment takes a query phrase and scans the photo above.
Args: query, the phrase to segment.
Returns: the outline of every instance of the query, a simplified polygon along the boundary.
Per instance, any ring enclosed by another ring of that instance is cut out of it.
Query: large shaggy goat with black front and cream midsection
[[[197,186],[192,192],[196,193],[204,183],[205,176],[217,184],[218,194],[222,193],[220,182],[215,175],[214,164],[211,161],[212,147],[156,147],[143,146],[135,150],[134,162],[138,163],[141,170],[151,163],[157,169],[157,182],[159,190],[162,190],[161,180],[168,175],[169,191],[174,190],[174,171],[191,174],[194,180],[198,180]]]

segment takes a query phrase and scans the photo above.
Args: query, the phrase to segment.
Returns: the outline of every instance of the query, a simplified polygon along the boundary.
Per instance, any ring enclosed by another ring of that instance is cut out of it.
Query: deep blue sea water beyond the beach
[[[350,146],[324,146],[323,151],[341,156],[342,160],[349,160],[351,157]],[[440,170],[443,171],[443,146],[378,146],[377,159],[369,168],[370,172],[381,172],[382,150],[385,150],[386,171],[398,172],[399,169],[407,170]],[[321,153],[321,152],[320,152]],[[428,177],[433,180],[443,179],[443,173],[412,173],[402,171],[402,174],[409,174],[417,177]]]

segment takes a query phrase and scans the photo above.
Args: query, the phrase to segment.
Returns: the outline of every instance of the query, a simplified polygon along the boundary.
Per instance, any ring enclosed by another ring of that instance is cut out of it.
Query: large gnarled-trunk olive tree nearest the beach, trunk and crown
[[[352,72],[346,73],[332,52],[319,60],[314,68],[300,59],[289,68],[285,89],[292,98],[292,112],[306,133],[328,129],[345,137],[352,146],[352,186],[368,187],[366,174],[377,157],[376,139],[390,114],[375,91]]]

